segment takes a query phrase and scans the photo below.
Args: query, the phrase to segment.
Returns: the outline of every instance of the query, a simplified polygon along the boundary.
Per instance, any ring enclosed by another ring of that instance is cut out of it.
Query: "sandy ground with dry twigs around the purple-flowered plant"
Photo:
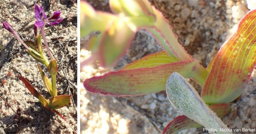
[[[72,94],[74,97],[72,105],[57,111],[77,130],[77,89],[73,86],[77,85],[77,4],[76,1],[40,2],[46,14],[61,11],[61,17],[64,18],[61,24],[45,28],[46,38],[53,56],[59,63],[58,94]],[[1,0],[0,16],[12,24],[16,31],[19,30],[22,38],[34,39],[33,1]],[[46,99],[50,98],[37,69],[38,62],[26,53],[25,47],[2,25],[0,45],[0,95],[15,112],[19,111],[18,106],[23,109],[20,118],[17,118],[14,111],[0,99],[0,133],[72,133],[68,124],[42,107],[39,100],[30,94],[19,79],[19,75],[22,75]],[[42,69],[47,72],[45,66]]]

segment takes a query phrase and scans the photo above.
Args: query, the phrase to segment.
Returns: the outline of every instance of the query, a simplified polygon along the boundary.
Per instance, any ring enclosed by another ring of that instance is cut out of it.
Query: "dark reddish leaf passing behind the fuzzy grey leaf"
[[[209,106],[212,111],[214,111],[219,118],[223,118],[225,115],[229,114],[231,108],[229,104],[222,103],[222,104],[214,104]],[[163,130],[163,134],[176,134],[181,130],[184,129],[191,129],[191,128],[199,128],[202,127],[199,123],[189,119],[185,115],[181,115],[173,119],[165,129]]]

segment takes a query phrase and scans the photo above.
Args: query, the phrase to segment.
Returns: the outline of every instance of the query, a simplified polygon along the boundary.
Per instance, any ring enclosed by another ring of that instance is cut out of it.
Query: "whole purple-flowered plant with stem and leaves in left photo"
[[[45,99],[38,91],[25,79],[24,77],[20,76],[20,80],[25,84],[26,88],[29,89],[30,93],[35,96],[41,104],[50,112],[54,112],[59,115],[62,119],[64,119],[67,123],[68,121],[62,116],[56,109],[62,108],[64,106],[70,105],[70,99],[72,95],[58,95],[57,88],[56,88],[56,75],[58,72],[57,61],[53,58],[52,54],[50,53],[50,49],[45,37],[44,26],[45,24],[49,25],[56,25],[63,21],[63,18],[60,18],[61,12],[55,11],[52,16],[49,18],[46,17],[44,12],[44,8],[38,7],[35,4],[35,24],[34,24],[34,34],[35,39],[34,41],[23,41],[16,31],[8,24],[7,22],[3,22],[3,27],[11,32],[19,42],[22,43],[23,46],[26,47],[27,53],[31,55],[35,60],[42,63],[46,66],[48,72],[50,73],[51,80],[45,75],[42,71],[41,66],[38,64],[39,72],[41,73],[42,80],[44,81],[45,87],[48,90],[49,94],[52,96],[49,100]],[[38,29],[40,28],[41,34],[38,34]],[[43,38],[48,55],[50,57],[50,61],[48,61],[48,57],[45,56],[41,39]],[[68,125],[72,128],[72,126],[68,123]],[[73,129],[73,128],[72,128]],[[76,131],[73,129],[76,133]]]

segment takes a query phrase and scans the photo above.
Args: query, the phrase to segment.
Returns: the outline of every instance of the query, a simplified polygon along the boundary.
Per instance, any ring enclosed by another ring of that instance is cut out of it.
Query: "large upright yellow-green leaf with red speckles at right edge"
[[[206,103],[229,103],[242,93],[256,65],[255,33],[256,10],[252,10],[210,64],[211,72],[201,94]]]

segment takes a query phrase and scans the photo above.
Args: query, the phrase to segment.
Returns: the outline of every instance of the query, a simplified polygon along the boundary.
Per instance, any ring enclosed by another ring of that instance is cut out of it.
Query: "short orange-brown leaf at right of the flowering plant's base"
[[[70,98],[72,95],[58,95],[58,96],[53,96],[49,100],[49,105],[52,109],[56,110],[59,108],[62,108],[64,106],[70,105]]]

